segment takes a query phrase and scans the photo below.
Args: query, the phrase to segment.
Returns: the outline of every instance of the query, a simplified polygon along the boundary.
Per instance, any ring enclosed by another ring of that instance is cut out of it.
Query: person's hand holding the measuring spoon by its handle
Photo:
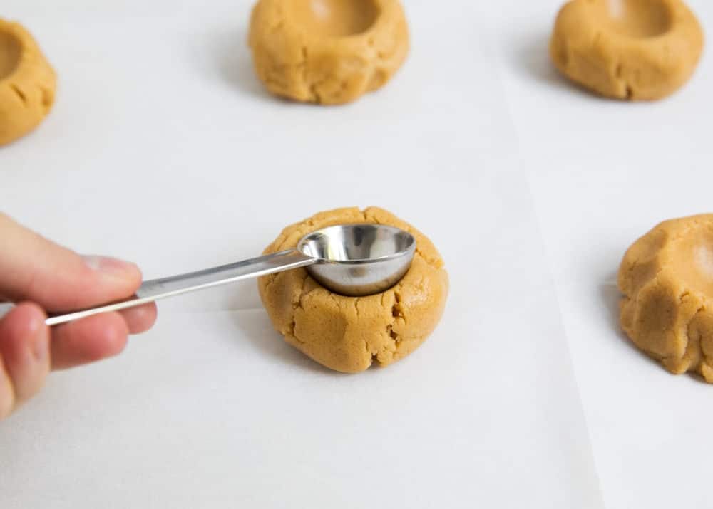
[[[129,334],[148,330],[155,304],[48,327],[63,312],[130,297],[141,284],[133,263],[78,254],[0,213],[0,301],[18,303],[0,319],[0,419],[41,389],[51,369],[116,355]]]

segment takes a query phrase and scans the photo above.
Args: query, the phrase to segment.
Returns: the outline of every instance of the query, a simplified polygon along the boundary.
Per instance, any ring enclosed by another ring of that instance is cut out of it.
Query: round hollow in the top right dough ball
[[[655,37],[671,26],[671,13],[661,0],[607,0],[612,30],[630,37]]]

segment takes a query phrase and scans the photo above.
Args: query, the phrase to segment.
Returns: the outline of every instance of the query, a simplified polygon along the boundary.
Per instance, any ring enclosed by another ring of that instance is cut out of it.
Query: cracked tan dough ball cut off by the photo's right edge
[[[642,236],[624,256],[619,288],[621,325],[635,345],[674,374],[713,383],[713,214]]]

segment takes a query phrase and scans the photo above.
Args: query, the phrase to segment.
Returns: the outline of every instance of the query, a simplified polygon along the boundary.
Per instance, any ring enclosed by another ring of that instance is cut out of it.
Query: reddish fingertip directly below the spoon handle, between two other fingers
[[[65,369],[113,357],[126,346],[129,333],[120,313],[102,313],[52,329],[52,369]]]

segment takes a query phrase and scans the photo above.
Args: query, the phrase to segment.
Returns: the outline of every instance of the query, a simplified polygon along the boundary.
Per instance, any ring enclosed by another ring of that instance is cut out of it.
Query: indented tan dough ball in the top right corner
[[[572,0],[550,40],[550,56],[570,80],[628,100],[677,90],[702,49],[701,26],[681,0]]]

